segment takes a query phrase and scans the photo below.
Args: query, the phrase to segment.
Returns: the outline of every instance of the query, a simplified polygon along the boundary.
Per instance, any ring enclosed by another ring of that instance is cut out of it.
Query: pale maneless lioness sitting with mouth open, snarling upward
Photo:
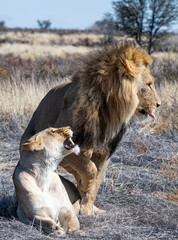
[[[64,156],[79,153],[69,127],[47,128],[22,145],[13,181],[20,221],[41,224],[46,233],[79,229],[79,221],[58,174]],[[61,226],[57,223],[60,222]]]

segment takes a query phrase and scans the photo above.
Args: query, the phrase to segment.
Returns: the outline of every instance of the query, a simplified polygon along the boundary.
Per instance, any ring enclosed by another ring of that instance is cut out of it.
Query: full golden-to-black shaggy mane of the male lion
[[[73,105],[80,146],[100,148],[117,139],[138,104],[132,92],[133,80],[140,67],[149,63],[151,58],[133,41],[121,41],[83,57],[73,75],[73,81],[80,82]],[[123,82],[123,78],[128,81]]]

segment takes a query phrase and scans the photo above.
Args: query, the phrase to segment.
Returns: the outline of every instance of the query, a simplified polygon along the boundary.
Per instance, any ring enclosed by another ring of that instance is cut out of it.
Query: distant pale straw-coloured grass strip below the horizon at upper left
[[[115,37],[117,42],[122,37]],[[90,51],[91,47],[101,46],[104,35],[94,33],[60,34],[58,32],[11,31],[0,34],[0,55],[12,54],[22,58],[61,57],[82,55]]]

